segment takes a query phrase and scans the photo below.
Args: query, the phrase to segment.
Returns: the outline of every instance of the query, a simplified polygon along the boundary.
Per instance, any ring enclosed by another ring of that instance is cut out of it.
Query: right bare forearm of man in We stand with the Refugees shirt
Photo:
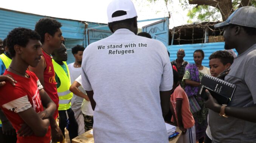
[[[162,107],[163,118],[168,114],[170,110],[170,97],[171,97],[171,90],[160,91],[160,103]]]

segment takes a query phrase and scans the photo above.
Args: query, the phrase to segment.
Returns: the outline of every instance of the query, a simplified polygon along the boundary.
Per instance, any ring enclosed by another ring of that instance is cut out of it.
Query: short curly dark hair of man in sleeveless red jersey
[[[41,18],[35,24],[35,31],[41,36],[41,43],[45,42],[45,33],[49,33],[51,36],[62,27],[61,23],[53,18]]]

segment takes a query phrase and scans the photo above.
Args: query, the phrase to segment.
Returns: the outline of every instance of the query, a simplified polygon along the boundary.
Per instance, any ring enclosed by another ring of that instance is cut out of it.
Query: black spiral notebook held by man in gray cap
[[[205,89],[209,90],[219,104],[228,104],[234,95],[236,86],[227,81],[205,74],[202,77],[201,87],[197,95],[207,100],[208,96],[205,93]]]

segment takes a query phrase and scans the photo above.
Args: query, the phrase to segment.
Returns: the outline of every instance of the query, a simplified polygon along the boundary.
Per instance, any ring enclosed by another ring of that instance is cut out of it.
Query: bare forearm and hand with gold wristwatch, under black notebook
[[[208,96],[208,100],[205,101],[205,106],[217,113],[220,113],[222,105],[217,103],[216,99],[214,99],[213,96],[211,96],[211,93],[208,90],[206,90],[206,94]],[[238,119],[242,119],[242,120],[246,120],[246,121],[254,122],[254,123],[256,123],[255,111],[256,111],[255,104],[251,107],[227,106],[225,108],[225,114],[227,114],[227,116],[236,117]]]

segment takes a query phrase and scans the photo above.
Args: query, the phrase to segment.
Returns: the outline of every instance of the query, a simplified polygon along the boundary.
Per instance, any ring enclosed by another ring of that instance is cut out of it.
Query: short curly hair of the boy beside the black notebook
[[[211,59],[220,59],[223,65],[227,65],[227,63],[232,64],[234,62],[234,57],[228,51],[216,51],[211,54],[209,60]]]

